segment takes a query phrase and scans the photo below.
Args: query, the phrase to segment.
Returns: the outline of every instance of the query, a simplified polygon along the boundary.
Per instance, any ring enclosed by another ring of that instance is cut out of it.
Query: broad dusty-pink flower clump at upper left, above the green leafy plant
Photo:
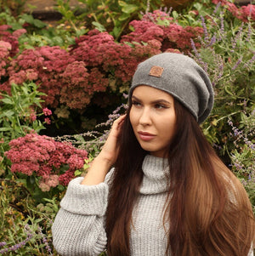
[[[58,46],[26,49],[11,61],[6,83],[37,82],[40,84],[40,91],[47,94],[47,97],[44,97],[45,105],[55,107],[59,104],[58,98],[63,83],[61,74],[73,61],[70,54]]]

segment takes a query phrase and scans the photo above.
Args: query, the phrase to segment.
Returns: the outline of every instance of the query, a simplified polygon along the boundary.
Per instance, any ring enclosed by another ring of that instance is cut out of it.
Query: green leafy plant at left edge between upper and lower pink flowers
[[[34,82],[24,82],[22,86],[12,84],[11,94],[0,93],[0,175],[7,168],[4,152],[8,151],[8,142],[31,131],[39,133],[44,126],[37,120],[42,109],[41,96]]]

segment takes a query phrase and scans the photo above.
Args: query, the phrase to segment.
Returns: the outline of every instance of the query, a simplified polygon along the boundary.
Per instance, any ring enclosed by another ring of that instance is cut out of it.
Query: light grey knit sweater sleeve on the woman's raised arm
[[[54,247],[63,256],[96,256],[107,243],[108,185],[81,185],[82,179],[71,180],[52,226]]]

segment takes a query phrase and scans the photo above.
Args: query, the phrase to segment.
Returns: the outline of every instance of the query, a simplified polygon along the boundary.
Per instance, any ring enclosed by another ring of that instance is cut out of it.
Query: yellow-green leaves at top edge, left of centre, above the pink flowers
[[[161,6],[158,0],[79,0],[85,7],[81,10],[71,9],[69,0],[57,1],[57,10],[63,15],[61,22],[69,24],[73,30],[77,31],[79,26],[88,26],[92,24],[99,31],[109,31],[116,41],[121,37],[124,31],[127,31],[131,20],[141,18],[140,12],[145,12],[150,4],[152,9]],[[85,20],[85,23],[84,23]]]

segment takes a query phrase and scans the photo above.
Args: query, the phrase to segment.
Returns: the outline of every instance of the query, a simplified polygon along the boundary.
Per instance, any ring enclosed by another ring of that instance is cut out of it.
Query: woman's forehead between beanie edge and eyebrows
[[[141,100],[169,100],[173,101],[173,96],[158,88],[153,88],[148,85],[139,85],[133,89],[132,96]]]

